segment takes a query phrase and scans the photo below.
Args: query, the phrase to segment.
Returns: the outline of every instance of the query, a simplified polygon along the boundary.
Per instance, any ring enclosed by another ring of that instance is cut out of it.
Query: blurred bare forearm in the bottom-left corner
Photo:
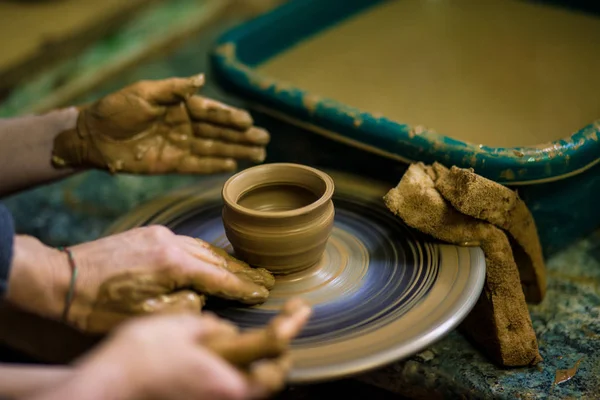
[[[66,382],[72,372],[67,367],[0,364],[0,398],[21,399],[34,396]]]

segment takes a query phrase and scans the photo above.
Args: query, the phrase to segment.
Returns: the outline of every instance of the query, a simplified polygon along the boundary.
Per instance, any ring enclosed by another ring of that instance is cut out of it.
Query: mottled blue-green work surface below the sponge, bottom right
[[[367,381],[407,395],[448,398],[600,398],[600,233],[549,260],[549,287],[530,307],[544,361],[530,369],[499,369],[458,333],[413,359],[369,373]],[[579,368],[554,385],[557,370]],[[414,392],[411,392],[413,391]]]

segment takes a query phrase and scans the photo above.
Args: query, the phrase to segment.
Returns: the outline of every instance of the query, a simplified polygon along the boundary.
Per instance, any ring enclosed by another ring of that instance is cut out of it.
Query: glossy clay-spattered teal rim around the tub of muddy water
[[[263,110],[308,122],[321,128],[320,133],[326,130],[338,140],[405,162],[441,161],[474,168],[497,182],[524,185],[568,178],[600,161],[600,119],[573,127],[575,133],[565,132],[564,139],[547,144],[487,147],[433,131],[416,135],[415,127],[316,97],[254,69],[299,41],[385,1],[389,0],[292,0],[222,36],[213,54],[214,73],[222,85]]]

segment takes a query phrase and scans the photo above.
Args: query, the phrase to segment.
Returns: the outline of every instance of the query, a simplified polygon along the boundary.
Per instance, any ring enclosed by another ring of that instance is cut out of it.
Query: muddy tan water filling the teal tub
[[[600,18],[525,1],[390,1],[260,72],[400,123],[497,147],[600,118]],[[307,104],[310,109],[311,104]]]

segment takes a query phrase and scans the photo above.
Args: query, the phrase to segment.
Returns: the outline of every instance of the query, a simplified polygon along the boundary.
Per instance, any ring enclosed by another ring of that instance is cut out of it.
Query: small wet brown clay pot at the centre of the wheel
[[[237,258],[274,274],[317,263],[333,228],[333,179],[299,164],[263,164],[223,186],[223,224]]]

